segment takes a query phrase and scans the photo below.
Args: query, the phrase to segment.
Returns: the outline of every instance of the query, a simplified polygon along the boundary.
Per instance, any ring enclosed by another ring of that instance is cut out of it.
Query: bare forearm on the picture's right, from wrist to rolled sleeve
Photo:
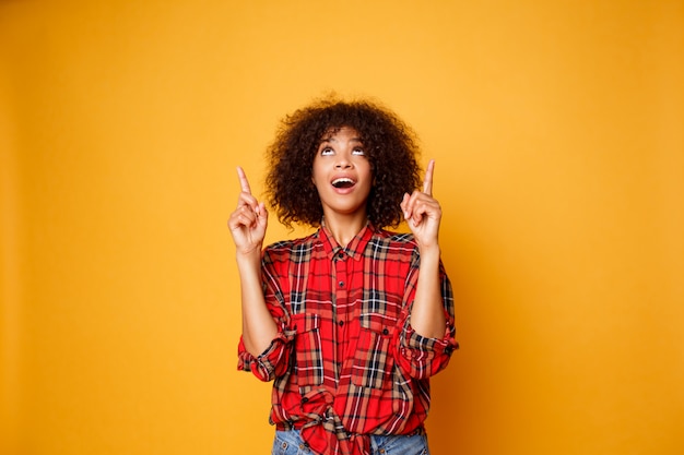
[[[426,338],[441,338],[446,316],[439,280],[439,247],[421,250],[421,265],[415,298],[411,310],[411,326]]]

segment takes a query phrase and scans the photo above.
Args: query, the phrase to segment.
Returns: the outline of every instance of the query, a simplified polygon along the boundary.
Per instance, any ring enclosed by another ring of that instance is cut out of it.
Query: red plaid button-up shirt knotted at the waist
[[[344,455],[370,453],[369,434],[423,430],[428,378],[458,344],[441,264],[445,336],[411,327],[418,264],[412,235],[370,225],[346,248],[323,226],[264,250],[263,291],[279,335],[257,358],[240,338],[238,369],[274,380],[271,423],[299,430],[315,453]]]

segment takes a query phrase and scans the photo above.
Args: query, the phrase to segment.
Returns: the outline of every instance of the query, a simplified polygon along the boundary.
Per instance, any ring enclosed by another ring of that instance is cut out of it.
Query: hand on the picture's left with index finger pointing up
[[[241,191],[237,201],[237,208],[228,218],[228,228],[238,255],[249,256],[258,252],[260,258],[269,213],[264,203],[257,201],[251,194],[247,176],[239,166],[237,167],[237,177],[240,181]]]

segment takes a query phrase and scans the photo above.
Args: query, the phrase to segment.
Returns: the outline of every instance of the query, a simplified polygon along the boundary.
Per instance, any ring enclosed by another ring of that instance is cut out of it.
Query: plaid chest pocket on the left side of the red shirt
[[[323,360],[318,314],[293,314],[291,326],[295,331],[295,376],[297,384],[320,385],[323,382]]]

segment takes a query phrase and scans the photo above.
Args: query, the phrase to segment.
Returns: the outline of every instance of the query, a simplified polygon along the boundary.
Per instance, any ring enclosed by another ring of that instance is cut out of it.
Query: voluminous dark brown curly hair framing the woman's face
[[[358,132],[370,164],[368,220],[377,228],[397,227],[403,220],[403,194],[421,184],[415,133],[377,103],[329,97],[286,116],[267,148],[267,199],[283,225],[320,225],[323,208],[311,181],[314,158],[323,136],[343,127]]]

